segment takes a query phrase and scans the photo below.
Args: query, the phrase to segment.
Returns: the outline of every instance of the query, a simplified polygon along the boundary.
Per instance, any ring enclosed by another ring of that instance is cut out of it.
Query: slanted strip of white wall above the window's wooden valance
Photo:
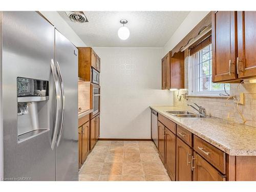
[[[208,13],[209,11],[191,11],[166,42],[163,48],[164,55],[172,50]]]

